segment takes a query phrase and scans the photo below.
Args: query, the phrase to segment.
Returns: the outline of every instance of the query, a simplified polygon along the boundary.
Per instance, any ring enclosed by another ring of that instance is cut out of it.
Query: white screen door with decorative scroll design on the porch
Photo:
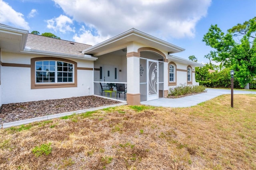
[[[158,61],[148,59],[148,101],[158,99]]]

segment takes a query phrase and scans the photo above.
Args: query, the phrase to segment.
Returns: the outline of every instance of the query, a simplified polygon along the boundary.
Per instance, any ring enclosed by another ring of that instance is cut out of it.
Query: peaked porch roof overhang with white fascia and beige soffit
[[[84,54],[92,54],[94,56],[102,55],[104,51],[108,51],[110,49],[115,49],[115,47],[120,47],[122,45],[126,45],[130,42],[137,42],[145,45],[145,47],[156,48],[160,51],[167,51],[169,54],[178,53],[184,51],[185,49],[173,45],[171,43],[165,42],[153,36],[150,36],[144,32],[140,32],[134,28],[128,30],[118,36],[110,38],[102,43],[89,47],[82,51]]]

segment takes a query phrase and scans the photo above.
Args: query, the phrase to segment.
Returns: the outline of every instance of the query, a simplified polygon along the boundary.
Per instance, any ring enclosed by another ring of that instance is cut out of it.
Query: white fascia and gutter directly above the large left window
[[[57,56],[57,57],[75,58],[75,59],[82,59],[82,60],[87,60],[87,61],[96,61],[98,59],[97,57],[86,57],[86,56],[69,55],[69,54],[62,54],[62,53],[52,53],[52,52],[27,50],[27,49],[24,49],[21,52],[32,53],[32,54],[40,54],[40,55],[51,55],[51,56]]]

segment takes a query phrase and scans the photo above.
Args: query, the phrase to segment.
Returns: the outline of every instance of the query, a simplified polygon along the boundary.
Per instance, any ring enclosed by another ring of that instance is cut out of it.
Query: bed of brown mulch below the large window
[[[96,96],[82,96],[3,104],[0,108],[0,124],[117,103],[120,102]]]

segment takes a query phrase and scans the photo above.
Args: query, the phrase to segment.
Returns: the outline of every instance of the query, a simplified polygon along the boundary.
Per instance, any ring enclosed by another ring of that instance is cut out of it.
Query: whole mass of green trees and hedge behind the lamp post
[[[205,67],[196,68],[196,81],[206,87],[230,87],[230,70],[234,70],[235,88],[256,89],[255,38],[256,17],[233,26],[226,34],[217,25],[211,25],[202,41],[214,51],[204,56],[209,59]],[[197,61],[194,55],[188,58]]]

